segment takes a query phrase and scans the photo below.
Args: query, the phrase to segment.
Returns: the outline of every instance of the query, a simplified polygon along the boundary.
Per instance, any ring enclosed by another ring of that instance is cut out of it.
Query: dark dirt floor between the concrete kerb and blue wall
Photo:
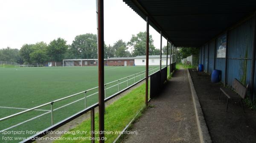
[[[213,143],[256,143],[256,111],[241,105],[235,100],[229,103],[226,112],[227,98],[221,95],[218,100],[219,83],[211,83],[210,76],[189,69],[191,78],[201,104],[204,118]]]

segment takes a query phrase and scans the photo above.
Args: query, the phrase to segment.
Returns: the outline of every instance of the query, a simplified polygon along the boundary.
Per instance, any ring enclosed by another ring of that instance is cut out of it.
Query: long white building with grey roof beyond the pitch
[[[170,64],[170,55],[168,55],[168,64]],[[146,65],[146,56],[134,57],[134,65]],[[160,55],[149,55],[148,65],[160,65]],[[162,55],[162,65],[166,65],[166,55]]]

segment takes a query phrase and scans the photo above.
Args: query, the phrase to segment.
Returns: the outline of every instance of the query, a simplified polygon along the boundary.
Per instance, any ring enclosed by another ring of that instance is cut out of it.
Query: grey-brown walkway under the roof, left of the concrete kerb
[[[186,70],[177,70],[161,95],[150,101],[123,143],[199,143],[195,110]]]

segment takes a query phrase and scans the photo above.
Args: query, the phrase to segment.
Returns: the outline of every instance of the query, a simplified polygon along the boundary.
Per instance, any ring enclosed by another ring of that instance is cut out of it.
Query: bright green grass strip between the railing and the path
[[[132,90],[130,93],[122,96],[113,104],[106,107],[105,114],[105,131],[110,134],[105,134],[107,140],[105,143],[112,143],[113,140],[119,135],[117,132],[121,132],[125,126],[134,118],[140,109],[145,108],[145,84]],[[140,116],[139,113],[137,116]],[[77,138],[79,137],[90,137],[90,119],[82,122],[76,128],[70,129],[72,132],[87,132],[87,134],[66,134],[62,135],[62,138]],[[95,131],[99,131],[99,115],[95,114]],[[111,133],[113,132],[113,134]],[[95,135],[99,137],[99,135]],[[99,141],[96,140],[96,143]],[[90,143],[90,140],[55,140],[54,143]]]

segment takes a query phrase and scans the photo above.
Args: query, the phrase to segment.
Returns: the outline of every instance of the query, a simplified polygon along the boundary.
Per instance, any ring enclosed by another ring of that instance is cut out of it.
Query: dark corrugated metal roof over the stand
[[[200,47],[256,10],[256,0],[123,0],[179,47]]]

